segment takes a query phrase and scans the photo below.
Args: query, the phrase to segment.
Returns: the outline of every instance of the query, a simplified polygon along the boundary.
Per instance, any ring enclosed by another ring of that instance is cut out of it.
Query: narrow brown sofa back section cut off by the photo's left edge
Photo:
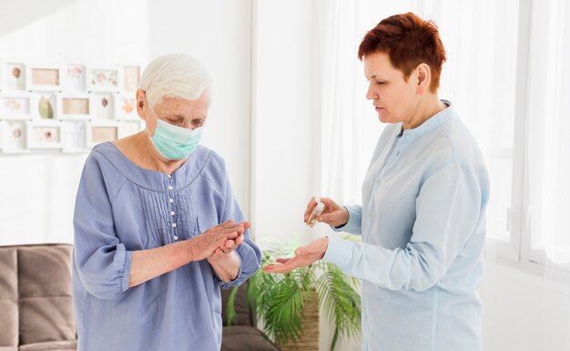
[[[0,247],[0,350],[17,349],[18,280],[15,247]]]

